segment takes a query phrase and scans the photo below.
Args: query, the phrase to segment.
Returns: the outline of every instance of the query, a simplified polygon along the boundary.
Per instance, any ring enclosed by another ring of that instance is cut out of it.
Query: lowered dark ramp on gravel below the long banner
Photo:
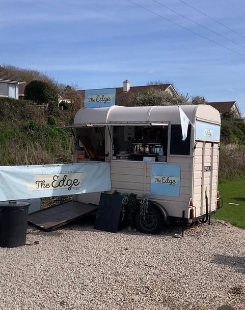
[[[96,211],[98,206],[68,201],[28,215],[28,223],[41,230],[50,231],[64,226]]]

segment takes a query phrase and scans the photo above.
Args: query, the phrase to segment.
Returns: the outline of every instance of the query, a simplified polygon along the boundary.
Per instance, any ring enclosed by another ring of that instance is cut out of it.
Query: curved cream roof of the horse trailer
[[[209,105],[184,105],[184,113],[192,123],[196,119],[220,124],[219,111]],[[82,108],[74,118],[74,126],[110,125],[120,123],[168,123],[180,124],[178,106]]]

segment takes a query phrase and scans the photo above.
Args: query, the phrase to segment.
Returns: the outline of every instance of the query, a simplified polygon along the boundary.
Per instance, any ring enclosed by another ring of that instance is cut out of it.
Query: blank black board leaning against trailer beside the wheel
[[[104,193],[100,195],[94,229],[108,232],[117,231],[122,209],[122,200],[123,196],[121,195]]]

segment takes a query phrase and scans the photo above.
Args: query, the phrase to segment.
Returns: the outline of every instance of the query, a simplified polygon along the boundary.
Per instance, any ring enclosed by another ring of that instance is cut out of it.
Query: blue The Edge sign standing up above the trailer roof
[[[85,90],[85,108],[111,107],[116,103],[116,88]]]

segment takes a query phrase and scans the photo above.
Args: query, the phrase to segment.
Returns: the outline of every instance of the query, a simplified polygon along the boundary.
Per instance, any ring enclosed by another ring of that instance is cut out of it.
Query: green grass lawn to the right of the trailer
[[[219,183],[219,191],[223,198],[223,208],[217,210],[212,217],[223,220],[234,226],[245,228],[245,179],[225,180]],[[229,205],[238,203],[239,206]]]

